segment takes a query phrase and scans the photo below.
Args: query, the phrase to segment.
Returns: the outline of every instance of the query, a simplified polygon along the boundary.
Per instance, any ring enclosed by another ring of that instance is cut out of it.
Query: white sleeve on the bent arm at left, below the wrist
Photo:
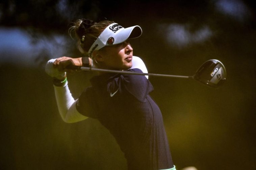
[[[70,93],[68,83],[64,87],[54,86],[54,91],[59,113],[64,122],[75,123],[88,118],[76,110],[76,101]]]

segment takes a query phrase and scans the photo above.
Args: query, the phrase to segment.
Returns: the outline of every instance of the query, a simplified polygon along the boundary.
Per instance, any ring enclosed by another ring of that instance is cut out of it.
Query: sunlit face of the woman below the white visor
[[[97,53],[96,60],[102,69],[126,70],[132,66],[133,49],[128,41],[105,46]]]

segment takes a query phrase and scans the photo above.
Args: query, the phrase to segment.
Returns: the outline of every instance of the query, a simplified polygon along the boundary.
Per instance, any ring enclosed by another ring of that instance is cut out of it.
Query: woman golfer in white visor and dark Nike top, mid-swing
[[[141,28],[82,19],[69,31],[75,33],[79,50],[89,58],[61,57],[46,64],[46,72],[54,77],[63,121],[98,119],[120,145],[128,170],[175,170],[161,111],[149,95],[153,87],[147,76],[101,72],[76,100],[68,88],[65,71],[70,71],[67,68],[71,65],[147,72],[143,61],[133,56],[129,43],[142,34]]]

